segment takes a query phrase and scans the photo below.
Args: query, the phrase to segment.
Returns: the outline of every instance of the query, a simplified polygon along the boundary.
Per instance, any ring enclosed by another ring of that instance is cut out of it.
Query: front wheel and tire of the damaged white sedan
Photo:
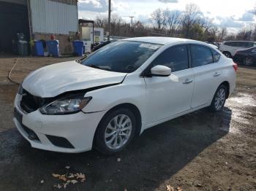
[[[134,138],[135,128],[136,118],[129,109],[110,111],[99,122],[94,147],[104,155],[121,152]]]

